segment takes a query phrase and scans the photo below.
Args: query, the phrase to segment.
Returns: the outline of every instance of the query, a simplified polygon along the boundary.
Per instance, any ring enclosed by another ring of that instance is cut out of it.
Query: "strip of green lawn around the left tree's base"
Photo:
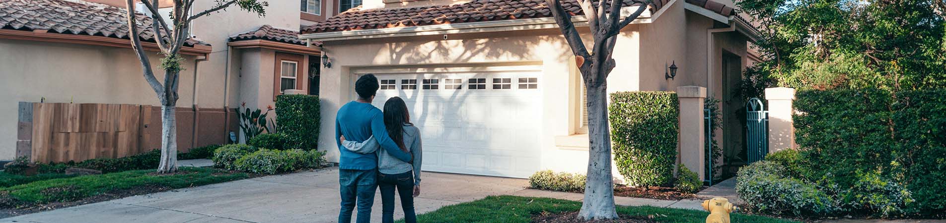
[[[55,178],[33,181],[0,188],[0,194],[19,203],[48,203],[73,201],[85,197],[131,189],[140,186],[163,186],[172,189],[200,186],[223,181],[241,180],[245,173],[231,173],[219,169],[181,167],[174,175],[153,175],[154,170],[131,170],[101,175]],[[9,176],[8,176],[9,177]]]

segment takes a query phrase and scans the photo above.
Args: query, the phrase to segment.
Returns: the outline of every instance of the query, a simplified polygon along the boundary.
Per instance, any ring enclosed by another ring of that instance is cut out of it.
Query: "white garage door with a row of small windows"
[[[377,75],[375,106],[400,96],[421,129],[425,171],[528,178],[539,169],[537,73]]]

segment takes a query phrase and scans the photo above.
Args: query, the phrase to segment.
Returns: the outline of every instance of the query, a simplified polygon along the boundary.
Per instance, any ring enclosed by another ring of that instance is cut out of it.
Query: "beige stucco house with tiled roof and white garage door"
[[[587,31],[577,4],[562,2]],[[609,92],[694,85],[731,100],[756,37],[732,2],[658,0],[649,8],[618,36]],[[375,74],[379,108],[392,96],[408,102],[423,131],[425,170],[524,178],[587,168],[580,74],[544,0],[365,0],[300,38],[321,42],[331,62],[321,74],[319,142],[332,161],[335,127],[325,120],[356,98],[359,76]],[[665,78],[671,64],[677,75]],[[724,112],[733,108],[742,107]]]

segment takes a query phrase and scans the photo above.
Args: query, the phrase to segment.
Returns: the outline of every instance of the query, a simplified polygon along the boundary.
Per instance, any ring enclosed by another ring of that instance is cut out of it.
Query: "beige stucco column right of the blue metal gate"
[[[769,152],[784,148],[796,148],[795,126],[792,125],[792,101],[795,100],[794,88],[766,88],[769,113]]]

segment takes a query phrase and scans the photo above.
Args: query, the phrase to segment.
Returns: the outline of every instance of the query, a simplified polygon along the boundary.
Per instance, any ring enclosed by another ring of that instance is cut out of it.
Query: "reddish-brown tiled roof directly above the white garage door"
[[[685,0],[687,3],[710,9],[725,16],[735,15],[735,10],[711,0]],[[655,0],[651,11],[662,8],[670,0]],[[623,0],[624,6],[639,6],[632,0]],[[562,7],[570,15],[584,15],[575,0],[563,0]],[[324,22],[307,26],[303,34],[337,32],[359,29],[375,29],[406,26],[430,26],[462,24],[486,21],[516,20],[552,17],[545,0],[474,0],[463,4],[399,9],[349,9]]]

